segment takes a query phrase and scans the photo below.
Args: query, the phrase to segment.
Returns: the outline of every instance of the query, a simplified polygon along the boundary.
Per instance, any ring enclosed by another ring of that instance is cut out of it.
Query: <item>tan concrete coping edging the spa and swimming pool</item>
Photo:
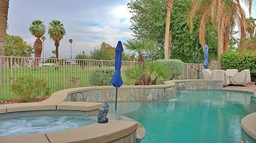
[[[152,86],[122,86],[120,89],[140,89],[140,88],[170,88],[174,87],[176,83],[179,82],[200,82],[200,84],[196,83],[196,89],[202,89],[200,85],[204,82],[220,82],[220,86],[222,86],[222,80],[171,80],[164,82],[165,84],[162,85],[152,85]],[[220,88],[220,86],[215,86]],[[256,92],[254,90],[244,90],[241,89],[242,87],[238,88],[220,88],[222,90],[231,90],[231,91],[241,91],[241,92],[250,92],[254,93],[254,97],[256,98]],[[80,111],[93,111],[98,110],[102,103],[95,103],[95,102],[66,102],[67,97],[70,94],[74,94],[77,92],[84,92],[87,90],[102,90],[102,89],[113,89],[113,86],[92,86],[92,87],[83,87],[83,88],[70,88],[65,90],[60,90],[58,92],[54,92],[50,98],[43,102],[34,102],[34,103],[20,103],[20,104],[3,104],[0,105],[0,114],[10,113],[10,112],[22,112],[22,111],[36,111],[36,110],[80,110]],[[194,89],[194,88],[193,88]],[[252,126],[252,122],[256,119],[255,113],[249,114],[245,118],[242,119],[241,125],[242,128],[254,139],[256,139],[256,127]],[[96,116],[96,115],[95,115]],[[120,125],[118,124],[120,123]],[[85,126],[82,128],[65,130],[65,131],[57,131],[53,133],[46,133],[46,134],[32,134],[32,135],[18,135],[18,136],[2,136],[0,137],[1,143],[54,143],[56,141],[66,141],[66,143],[79,143],[81,141],[96,143],[96,142],[111,142],[117,143],[120,141],[124,141],[127,138],[132,138],[134,135],[131,131],[135,132],[135,138],[143,139],[145,135],[144,127],[136,121],[117,121],[117,120],[110,120],[109,123],[99,124],[94,123],[90,127]],[[138,128],[139,126],[139,128]],[[106,127],[106,128],[105,128]],[[106,131],[102,133],[102,130],[111,127],[116,130],[110,130],[110,132]],[[103,129],[104,128],[104,129]],[[129,130],[129,129],[131,130]],[[84,133],[93,130],[95,136],[85,136]],[[65,133],[65,134],[62,134]],[[78,134],[79,133],[79,134]],[[81,134],[80,134],[81,133]],[[51,136],[54,134],[53,136]],[[69,139],[70,136],[79,137]],[[95,140],[93,140],[94,138]],[[34,139],[34,140],[33,140]],[[35,140],[36,139],[36,140]],[[64,139],[64,140],[63,140]],[[98,139],[102,139],[99,141]],[[105,141],[106,139],[106,141]],[[134,142],[133,139],[130,139]],[[24,141],[24,142],[23,142]]]

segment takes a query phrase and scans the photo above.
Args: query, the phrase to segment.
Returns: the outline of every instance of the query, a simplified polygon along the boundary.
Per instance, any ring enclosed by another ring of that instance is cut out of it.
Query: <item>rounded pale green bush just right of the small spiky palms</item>
[[[162,63],[170,70],[171,75],[169,80],[180,79],[180,77],[184,74],[184,63],[178,59],[162,59],[156,60],[156,62]]]

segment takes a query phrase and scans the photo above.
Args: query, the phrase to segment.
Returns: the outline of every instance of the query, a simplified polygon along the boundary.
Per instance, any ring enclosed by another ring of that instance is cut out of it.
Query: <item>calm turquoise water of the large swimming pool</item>
[[[146,135],[142,143],[256,143],[241,127],[244,116],[256,112],[252,94],[223,90],[176,92],[165,101],[111,102],[110,112],[142,123]],[[137,104],[138,105],[138,104]]]

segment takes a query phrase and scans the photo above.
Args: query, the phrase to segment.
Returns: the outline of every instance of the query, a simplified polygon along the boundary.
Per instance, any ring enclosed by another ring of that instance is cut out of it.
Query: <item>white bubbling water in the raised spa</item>
[[[96,123],[95,118],[69,115],[19,117],[0,120],[0,136],[47,133]]]

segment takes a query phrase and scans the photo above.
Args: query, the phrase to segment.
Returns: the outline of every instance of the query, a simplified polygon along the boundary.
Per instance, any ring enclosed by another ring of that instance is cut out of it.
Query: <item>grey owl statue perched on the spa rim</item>
[[[104,102],[98,111],[98,123],[108,123],[108,102]]]

